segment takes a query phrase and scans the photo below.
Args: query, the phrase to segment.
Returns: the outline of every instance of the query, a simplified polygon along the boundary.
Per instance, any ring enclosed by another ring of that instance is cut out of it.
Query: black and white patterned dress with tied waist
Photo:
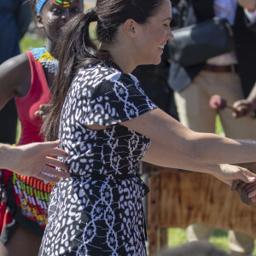
[[[131,74],[101,65],[79,70],[59,134],[71,177],[53,189],[39,255],[146,255],[148,187],[137,171],[150,139],[119,123],[154,108]]]

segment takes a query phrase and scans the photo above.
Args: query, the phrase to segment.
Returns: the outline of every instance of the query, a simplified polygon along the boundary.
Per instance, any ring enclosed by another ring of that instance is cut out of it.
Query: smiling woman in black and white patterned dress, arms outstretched
[[[146,255],[140,160],[229,184],[255,180],[247,169],[223,164],[255,160],[255,144],[190,131],[130,74],[160,62],[173,38],[171,20],[169,0],[98,0],[68,22],[44,133],[61,138],[71,177],[53,189],[39,255]],[[90,39],[93,21],[99,50]]]

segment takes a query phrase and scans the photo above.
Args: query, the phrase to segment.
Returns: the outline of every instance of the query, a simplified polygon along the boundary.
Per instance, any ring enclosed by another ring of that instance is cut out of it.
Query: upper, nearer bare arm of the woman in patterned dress
[[[125,121],[122,125],[150,137],[154,142],[152,147],[155,143],[162,145],[166,151],[166,162],[170,161],[170,166],[173,151],[189,160],[207,164],[234,164],[256,160],[256,143],[191,131],[159,108]],[[162,153],[159,151],[152,155],[152,163],[156,163]]]

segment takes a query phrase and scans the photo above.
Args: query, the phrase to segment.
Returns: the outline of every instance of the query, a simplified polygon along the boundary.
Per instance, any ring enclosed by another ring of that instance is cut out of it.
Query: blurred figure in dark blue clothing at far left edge
[[[0,1],[0,64],[20,54],[20,39],[26,33],[31,20],[29,1]],[[17,111],[14,97],[0,111],[0,124],[0,143],[15,143]]]

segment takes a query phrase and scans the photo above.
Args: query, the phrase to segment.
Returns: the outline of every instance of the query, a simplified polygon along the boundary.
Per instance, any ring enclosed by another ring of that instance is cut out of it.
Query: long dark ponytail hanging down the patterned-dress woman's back
[[[81,66],[87,67],[97,61],[96,44],[90,39],[90,22],[96,21],[95,9],[89,9],[69,20],[56,44],[54,55],[59,61],[54,79],[54,94],[46,110],[41,132],[47,141],[58,137],[61,109],[73,77]]]

